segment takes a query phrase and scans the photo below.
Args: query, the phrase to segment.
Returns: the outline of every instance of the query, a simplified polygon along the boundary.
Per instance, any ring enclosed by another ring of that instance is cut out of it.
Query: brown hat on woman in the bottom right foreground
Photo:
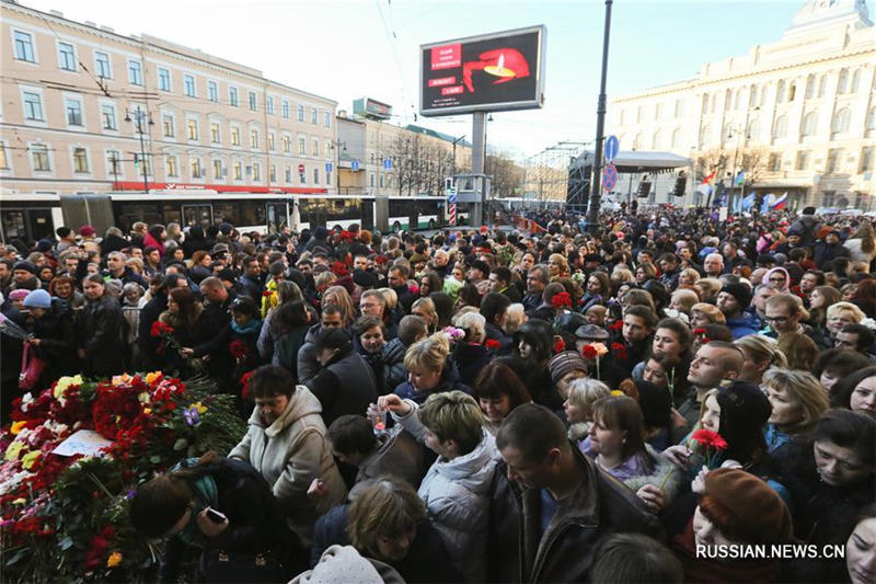
[[[791,537],[791,514],[782,497],[745,470],[713,470],[705,476],[705,495],[735,519],[724,525],[724,518],[708,516],[718,529],[726,530],[735,524],[730,529],[746,537],[747,542],[776,543]]]

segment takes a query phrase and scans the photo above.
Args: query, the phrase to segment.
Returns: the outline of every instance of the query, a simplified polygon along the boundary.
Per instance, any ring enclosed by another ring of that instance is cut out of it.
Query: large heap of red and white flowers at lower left
[[[233,397],[161,373],[76,376],[16,399],[0,435],[3,580],[143,580],[158,553],[127,518],[137,486],[181,458],[229,451],[245,432]],[[81,430],[108,446],[54,453]]]

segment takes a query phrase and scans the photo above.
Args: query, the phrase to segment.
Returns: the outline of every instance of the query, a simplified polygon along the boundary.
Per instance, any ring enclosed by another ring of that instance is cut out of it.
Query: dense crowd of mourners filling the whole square
[[[874,582],[871,220],[533,219],[8,242],[3,415],[77,373],[235,396],[238,446],[130,501],[162,581]]]

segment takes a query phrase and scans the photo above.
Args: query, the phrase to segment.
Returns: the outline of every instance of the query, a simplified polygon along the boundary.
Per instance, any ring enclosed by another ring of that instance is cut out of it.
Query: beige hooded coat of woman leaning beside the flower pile
[[[318,515],[344,503],[347,489],[335,466],[325,434],[320,400],[304,386],[297,386],[283,414],[265,425],[258,409],[250,416],[246,435],[231,453],[251,463],[267,480],[289,528],[309,548]],[[308,488],[319,478],[327,494],[319,503]]]

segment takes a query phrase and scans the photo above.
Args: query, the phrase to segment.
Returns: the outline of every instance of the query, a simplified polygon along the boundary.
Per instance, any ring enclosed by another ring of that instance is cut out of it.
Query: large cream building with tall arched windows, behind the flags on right
[[[745,171],[746,195],[876,209],[876,27],[863,0],[802,4],[780,41],[613,100],[608,134],[621,149],[691,158],[693,183]],[[656,203],[703,203],[692,187],[669,197],[672,179]]]

